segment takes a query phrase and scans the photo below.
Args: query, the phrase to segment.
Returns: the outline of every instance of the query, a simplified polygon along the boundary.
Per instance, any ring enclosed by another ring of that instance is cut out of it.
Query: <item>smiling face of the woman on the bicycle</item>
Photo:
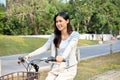
[[[69,20],[65,20],[61,16],[56,17],[56,27],[59,31],[67,30],[67,24],[69,23]]]

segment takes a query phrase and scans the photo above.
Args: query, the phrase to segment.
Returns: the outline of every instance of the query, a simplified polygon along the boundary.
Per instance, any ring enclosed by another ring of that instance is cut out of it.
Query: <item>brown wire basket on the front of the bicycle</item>
[[[14,72],[3,75],[0,80],[40,80],[39,72]]]

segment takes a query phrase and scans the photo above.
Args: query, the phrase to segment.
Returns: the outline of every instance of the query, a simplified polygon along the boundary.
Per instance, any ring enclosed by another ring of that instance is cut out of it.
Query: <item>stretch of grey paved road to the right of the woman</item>
[[[120,51],[120,40],[106,44],[80,47],[81,59],[106,55],[109,53],[119,52],[119,51]]]

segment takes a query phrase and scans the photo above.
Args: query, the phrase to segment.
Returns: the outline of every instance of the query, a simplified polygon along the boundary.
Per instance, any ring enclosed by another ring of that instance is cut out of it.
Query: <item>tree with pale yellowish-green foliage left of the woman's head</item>
[[[8,18],[17,18],[21,24],[22,30],[30,29],[30,34],[38,34],[37,15],[44,15],[48,2],[46,0],[25,0],[25,1],[10,1],[7,7],[6,15]],[[10,8],[9,8],[10,6]],[[14,23],[13,23],[14,25]],[[27,26],[26,26],[27,25]],[[16,27],[19,25],[16,25]],[[33,31],[32,31],[33,30]],[[27,31],[27,30],[26,30]],[[28,34],[28,33],[27,33]]]

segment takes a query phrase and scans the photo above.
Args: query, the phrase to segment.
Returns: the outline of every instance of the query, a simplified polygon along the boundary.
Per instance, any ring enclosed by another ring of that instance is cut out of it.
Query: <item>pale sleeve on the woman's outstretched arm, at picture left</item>
[[[50,46],[52,44],[52,41],[53,41],[53,38],[54,38],[54,34],[51,34],[48,41],[42,47],[40,47],[40,48],[36,49],[35,51],[31,52],[29,54],[29,56],[32,57],[32,56],[35,56],[35,55],[46,52],[50,48]]]

